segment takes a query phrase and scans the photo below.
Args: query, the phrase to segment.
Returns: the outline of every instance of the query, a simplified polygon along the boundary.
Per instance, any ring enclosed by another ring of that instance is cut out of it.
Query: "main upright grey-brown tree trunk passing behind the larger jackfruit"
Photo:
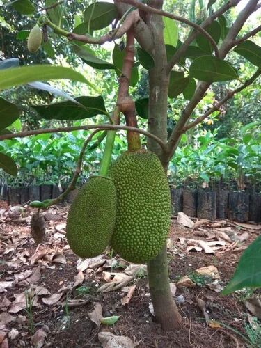
[[[157,3],[157,1],[155,1],[155,5],[159,4],[159,2],[160,1]],[[150,6],[152,5],[153,4],[150,3]],[[150,25],[150,23],[152,23],[152,25]],[[160,16],[151,15],[148,24],[153,33],[154,51],[151,52],[151,54],[155,59],[155,68],[149,71],[150,97],[148,131],[157,135],[163,141],[167,141],[169,76],[164,74],[166,50],[163,38],[163,23]],[[148,149],[159,156],[166,171],[168,168],[168,160],[164,157],[159,145],[152,139],[148,139]],[[171,295],[166,245],[156,258],[148,262],[148,280],[157,321],[165,331],[178,329],[182,324],[182,319]]]

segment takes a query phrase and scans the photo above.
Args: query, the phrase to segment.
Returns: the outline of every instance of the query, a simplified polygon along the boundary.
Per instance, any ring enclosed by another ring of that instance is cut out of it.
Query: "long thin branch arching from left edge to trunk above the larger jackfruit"
[[[166,150],[166,144],[161,141],[157,136],[151,134],[150,132],[145,131],[144,129],[139,129],[136,127],[129,127],[124,125],[82,125],[82,126],[72,126],[72,127],[58,127],[58,128],[45,128],[45,129],[35,129],[27,132],[18,132],[11,134],[3,134],[0,136],[1,140],[13,139],[13,138],[25,138],[26,136],[36,135],[36,134],[46,134],[46,133],[60,133],[60,132],[72,132],[76,130],[88,130],[88,129],[101,129],[101,130],[126,130],[137,132],[145,136],[149,136],[159,143],[163,150]]]

